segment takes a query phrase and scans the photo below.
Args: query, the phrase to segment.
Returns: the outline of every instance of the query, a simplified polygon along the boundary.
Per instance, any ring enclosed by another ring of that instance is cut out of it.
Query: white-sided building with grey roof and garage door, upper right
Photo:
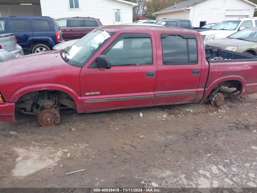
[[[187,0],[156,13],[156,19],[189,19],[194,27],[224,20],[252,17],[257,5],[248,0]]]

